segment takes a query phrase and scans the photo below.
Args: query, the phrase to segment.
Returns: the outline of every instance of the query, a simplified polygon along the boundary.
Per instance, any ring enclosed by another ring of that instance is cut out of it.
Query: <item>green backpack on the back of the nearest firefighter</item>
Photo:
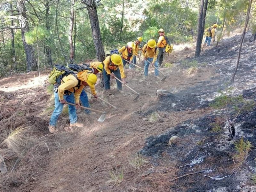
[[[49,78],[48,78],[48,82],[50,84],[61,84],[61,79],[64,77],[64,76],[68,76],[68,75],[75,75],[75,72],[62,66],[62,65],[54,65],[50,75],[49,75]]]

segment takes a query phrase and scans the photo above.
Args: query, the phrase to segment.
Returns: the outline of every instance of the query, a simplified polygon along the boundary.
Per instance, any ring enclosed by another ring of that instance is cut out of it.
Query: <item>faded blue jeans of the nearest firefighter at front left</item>
[[[61,104],[59,101],[59,96],[58,93],[54,92],[54,97],[55,97],[55,108],[54,111],[52,112],[52,116],[50,119],[50,125],[55,126],[57,124],[57,119],[60,116],[64,104]],[[75,104],[75,97],[74,93],[71,93],[70,95],[64,95],[64,99],[69,102],[69,103],[74,103]],[[76,107],[73,105],[68,105],[68,115],[69,115],[69,121],[71,124],[77,122],[77,116],[76,116]]]

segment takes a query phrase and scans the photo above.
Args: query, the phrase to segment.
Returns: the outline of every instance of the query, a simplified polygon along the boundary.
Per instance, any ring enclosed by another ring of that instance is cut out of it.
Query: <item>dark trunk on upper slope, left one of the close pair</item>
[[[201,52],[201,44],[202,44],[201,36],[204,33],[204,31],[202,31],[203,11],[204,11],[204,0],[201,0],[199,14],[198,14],[198,23],[197,23],[197,39],[196,39],[195,57],[200,57],[200,52]]]

